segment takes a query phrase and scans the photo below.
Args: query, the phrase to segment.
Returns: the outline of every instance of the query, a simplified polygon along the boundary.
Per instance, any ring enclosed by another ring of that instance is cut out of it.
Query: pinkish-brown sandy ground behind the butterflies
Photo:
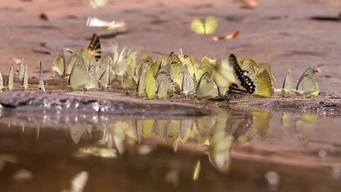
[[[44,12],[48,21],[39,19]],[[318,21],[312,16],[338,16],[340,0],[260,0],[255,9],[241,8],[236,0],[109,0],[108,6],[91,9],[87,0],[1,0],[0,69],[8,73],[12,58],[25,57],[30,76],[37,77],[43,62],[45,78],[52,78],[52,60],[60,48],[86,47],[93,32],[101,35],[102,51],[119,42],[145,50],[156,58],[183,46],[186,54],[201,57],[234,53],[257,62],[270,62],[278,85],[288,67],[296,83],[303,71],[319,67],[322,92],[341,94],[341,22]],[[215,35],[240,30],[236,39],[214,42],[196,35],[189,23],[194,17],[214,15]],[[118,34],[85,26],[88,16],[125,19],[128,32]],[[46,51],[47,53],[41,53]],[[18,66],[15,66],[18,68]]]

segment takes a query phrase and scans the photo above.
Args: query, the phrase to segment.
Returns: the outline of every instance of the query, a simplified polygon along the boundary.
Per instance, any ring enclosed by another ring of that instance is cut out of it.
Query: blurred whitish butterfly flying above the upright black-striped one
[[[125,30],[127,23],[124,21],[105,21],[96,17],[88,17],[86,21],[86,26],[90,27],[103,27],[106,30]]]

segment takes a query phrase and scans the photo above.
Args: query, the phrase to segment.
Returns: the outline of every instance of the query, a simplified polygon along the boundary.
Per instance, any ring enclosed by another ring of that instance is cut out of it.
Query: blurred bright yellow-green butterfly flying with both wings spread
[[[212,34],[218,26],[218,21],[213,16],[206,17],[203,23],[199,18],[195,18],[190,23],[190,28],[196,34]]]

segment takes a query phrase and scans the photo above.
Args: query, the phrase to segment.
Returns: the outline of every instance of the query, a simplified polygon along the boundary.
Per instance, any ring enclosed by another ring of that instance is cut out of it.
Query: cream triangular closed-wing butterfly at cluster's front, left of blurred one
[[[196,85],[195,95],[199,100],[214,98],[218,95],[218,88],[208,72],[202,75]]]

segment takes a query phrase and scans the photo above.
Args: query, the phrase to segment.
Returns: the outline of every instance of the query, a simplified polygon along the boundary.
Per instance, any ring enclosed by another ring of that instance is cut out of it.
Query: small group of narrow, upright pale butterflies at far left
[[[18,75],[17,75],[17,82],[21,84],[20,89],[25,91],[28,89],[28,73],[27,73],[27,64],[24,64],[23,57],[21,58]],[[14,72],[13,67],[9,68],[9,73],[7,77],[7,81],[4,84],[2,73],[0,72],[0,91],[12,91],[14,89]],[[39,70],[39,89],[45,91],[44,86],[44,79],[42,74],[41,62],[40,62],[40,70]]]

